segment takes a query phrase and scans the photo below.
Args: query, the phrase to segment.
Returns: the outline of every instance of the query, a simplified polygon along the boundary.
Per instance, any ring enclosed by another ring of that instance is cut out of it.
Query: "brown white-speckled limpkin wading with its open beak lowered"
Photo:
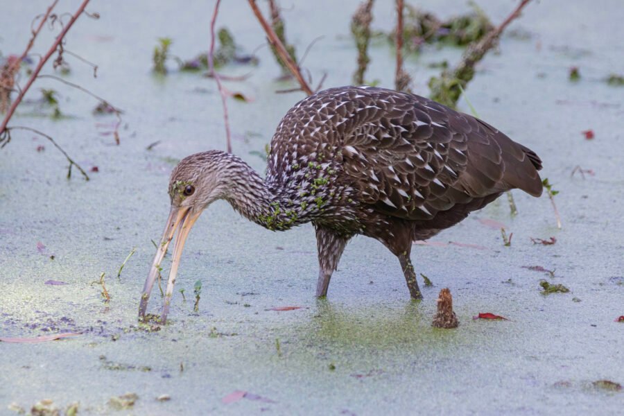
[[[218,199],[254,223],[284,231],[312,223],[320,271],[316,295],[349,239],[363,234],[398,257],[421,299],[410,251],[509,189],[540,196],[541,160],[491,125],[413,94],[375,87],[326,89],[297,103],[277,126],[263,179],[218,150],[182,159],[171,173],[171,211],[146,279],[144,317],[160,263],[177,230],[161,321],[191,227]]]

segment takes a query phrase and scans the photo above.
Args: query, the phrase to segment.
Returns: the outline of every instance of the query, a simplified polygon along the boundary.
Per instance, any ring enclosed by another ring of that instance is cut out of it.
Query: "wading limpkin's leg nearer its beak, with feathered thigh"
[[[345,245],[351,236],[343,236],[332,229],[315,225],[316,245],[318,248],[318,282],[316,284],[316,296],[327,296],[329,279],[333,270],[338,267],[338,261],[345,250]]]

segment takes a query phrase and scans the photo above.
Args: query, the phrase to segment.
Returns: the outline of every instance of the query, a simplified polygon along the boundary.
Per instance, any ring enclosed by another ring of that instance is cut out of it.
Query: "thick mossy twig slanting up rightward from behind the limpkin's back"
[[[468,46],[462,56],[460,63],[451,71],[445,70],[439,78],[431,78],[429,87],[431,88],[431,98],[449,107],[455,107],[461,96],[461,88],[474,77],[474,67],[483,59],[487,51],[492,49],[501,37],[501,33],[509,24],[520,16],[524,6],[531,0],[521,0],[517,8],[501,23],[497,28],[490,31],[479,42],[473,42]]]

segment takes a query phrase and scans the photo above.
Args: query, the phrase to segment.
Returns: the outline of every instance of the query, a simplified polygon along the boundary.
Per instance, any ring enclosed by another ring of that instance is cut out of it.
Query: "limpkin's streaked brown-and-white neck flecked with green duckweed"
[[[232,178],[225,200],[242,216],[267,229],[285,231],[318,215],[318,207],[296,202],[290,189],[268,184],[251,166],[240,163],[236,170],[243,174]]]

